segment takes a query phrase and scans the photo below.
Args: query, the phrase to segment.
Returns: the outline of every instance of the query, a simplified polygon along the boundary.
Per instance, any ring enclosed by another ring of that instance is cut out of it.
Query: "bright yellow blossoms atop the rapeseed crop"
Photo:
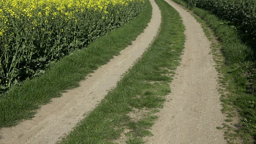
[[[65,17],[66,20],[76,18],[75,12],[84,12],[88,9],[104,12],[108,14],[107,8],[112,4],[127,6],[129,2],[134,0],[0,0],[0,36],[4,34],[7,28],[4,23],[8,23],[12,19],[24,19],[37,24],[38,18],[44,18],[44,22],[48,19],[56,17]],[[140,0],[143,1],[144,0]],[[105,18],[106,16],[104,16]]]

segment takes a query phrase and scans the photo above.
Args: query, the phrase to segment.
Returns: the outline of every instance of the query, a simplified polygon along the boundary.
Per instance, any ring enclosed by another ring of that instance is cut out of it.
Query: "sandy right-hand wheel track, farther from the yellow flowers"
[[[170,84],[172,93],[159,119],[150,130],[147,144],[225,144],[223,131],[217,130],[226,118],[218,93],[218,72],[210,42],[201,25],[181,6],[166,0],[182,17],[186,43],[181,65]]]

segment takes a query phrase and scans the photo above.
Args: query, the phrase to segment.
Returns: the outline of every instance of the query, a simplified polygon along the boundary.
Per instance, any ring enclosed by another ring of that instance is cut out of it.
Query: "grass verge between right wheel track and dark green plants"
[[[174,1],[187,6],[181,0]],[[206,10],[188,8],[194,12],[194,16],[196,14],[195,18],[212,42],[212,54],[222,86],[219,90],[222,94],[222,112],[227,116],[227,123],[221,128],[226,130],[225,138],[229,143],[256,143],[256,65],[253,46],[243,41],[243,35],[225,20]],[[240,122],[234,126],[232,118],[237,115]]]

